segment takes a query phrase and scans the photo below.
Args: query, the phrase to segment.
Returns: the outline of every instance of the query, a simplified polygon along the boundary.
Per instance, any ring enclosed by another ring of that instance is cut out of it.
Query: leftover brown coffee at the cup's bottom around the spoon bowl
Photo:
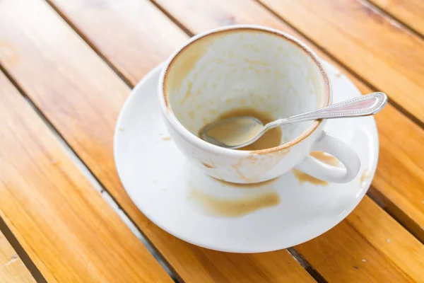
[[[223,112],[220,114],[216,120],[213,120],[212,123],[218,122],[220,120],[225,120],[232,117],[243,117],[243,116],[251,116],[255,117],[258,120],[260,120],[264,125],[272,122],[274,117],[270,115],[268,112],[263,112],[256,110],[254,108],[234,108],[232,110],[228,110],[226,112]],[[227,141],[226,144],[242,144],[243,140],[249,140],[249,137],[253,138],[256,136],[255,130],[256,128],[249,129],[248,132],[240,131],[240,135],[234,136],[234,133],[237,132],[237,129],[240,127],[245,127],[246,120],[233,120],[234,122],[226,123],[226,125],[223,125],[223,127],[220,127],[219,125],[216,127],[216,129],[212,129],[214,136],[217,137],[220,141],[226,141],[226,139],[233,139],[231,142]],[[200,137],[200,133],[199,133]],[[260,137],[257,141],[255,141],[253,144],[249,144],[248,146],[244,146],[238,150],[245,150],[245,151],[255,151],[260,149],[270,149],[272,147],[279,146],[281,144],[281,127],[276,127],[273,129],[270,129],[267,131],[262,137]]]

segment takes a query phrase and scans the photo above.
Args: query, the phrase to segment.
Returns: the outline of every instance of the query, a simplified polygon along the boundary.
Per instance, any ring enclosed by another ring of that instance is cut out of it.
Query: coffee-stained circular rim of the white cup
[[[192,45],[196,40],[199,40],[200,38],[207,37],[208,35],[213,35],[216,33],[230,33],[232,31],[240,31],[240,30],[250,30],[260,33],[270,33],[272,35],[278,35],[279,37],[282,37],[283,40],[288,40],[289,42],[293,43],[297,47],[300,47],[300,49],[309,56],[314,64],[317,65],[322,80],[324,81],[324,105],[323,107],[326,107],[330,103],[331,98],[331,87],[329,83],[329,78],[326,74],[326,71],[324,71],[324,68],[322,67],[321,62],[318,59],[317,54],[315,54],[314,51],[310,50],[309,47],[307,47],[303,42],[298,40],[297,38],[293,37],[292,35],[288,35],[287,33],[283,33],[280,30],[276,30],[274,28],[268,28],[261,25],[230,25],[230,26],[224,26],[220,28],[214,28],[211,30],[207,30],[204,33],[199,33],[195,35],[194,37],[191,37],[187,42],[182,45],[182,47],[179,47],[178,50],[176,50],[169,59],[167,59],[165,66],[163,67],[162,71],[160,72],[159,77],[159,84],[158,84],[158,96],[159,96],[159,102],[160,102],[160,108],[163,111],[163,114],[167,118],[167,120],[170,122],[172,127],[175,128],[175,130],[182,134],[184,137],[188,139],[188,141],[193,144],[194,146],[199,146],[201,149],[204,149],[206,151],[215,151],[218,154],[230,154],[230,155],[236,155],[236,156],[247,156],[249,154],[270,154],[276,151],[281,151],[284,149],[288,149],[291,146],[300,143],[300,141],[306,139],[309,137],[312,132],[314,132],[318,126],[324,122],[324,120],[315,120],[310,127],[308,127],[305,132],[302,132],[298,137],[295,139],[292,139],[285,144],[280,144],[279,146],[274,146],[269,149],[258,149],[254,151],[240,151],[237,149],[226,149],[225,147],[216,146],[215,144],[210,144],[207,141],[204,141],[200,137],[197,137],[195,134],[190,132],[186,127],[184,127],[181,122],[177,119],[177,117],[172,112],[172,108],[170,106],[170,103],[167,98],[166,94],[166,88],[167,88],[167,75],[169,74],[169,69],[172,66],[172,63],[175,62],[175,59],[177,59],[178,55],[184,51],[185,48],[187,48],[189,45]]]

